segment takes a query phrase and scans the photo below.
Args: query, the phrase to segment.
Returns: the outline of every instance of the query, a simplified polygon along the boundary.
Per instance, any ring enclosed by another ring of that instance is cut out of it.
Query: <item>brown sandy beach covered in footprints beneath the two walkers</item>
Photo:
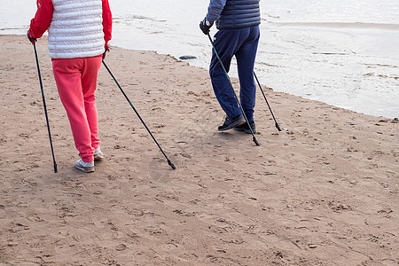
[[[0,35],[0,265],[399,265],[399,125],[264,86],[255,135],[223,123],[207,70],[113,47],[96,172],[78,154],[47,41]],[[234,87],[239,88],[233,79]],[[259,91],[258,91],[259,92]]]

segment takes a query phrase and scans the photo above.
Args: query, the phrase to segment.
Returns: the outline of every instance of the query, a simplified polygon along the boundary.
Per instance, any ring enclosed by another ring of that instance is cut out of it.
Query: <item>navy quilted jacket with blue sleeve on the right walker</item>
[[[218,29],[254,27],[261,24],[260,0],[210,0],[207,20]]]

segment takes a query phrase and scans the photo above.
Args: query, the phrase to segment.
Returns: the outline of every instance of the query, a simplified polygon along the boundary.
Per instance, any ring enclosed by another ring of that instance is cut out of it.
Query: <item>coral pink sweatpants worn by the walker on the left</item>
[[[98,148],[96,88],[101,55],[92,58],[52,59],[59,98],[66,109],[74,145],[83,161],[93,161]]]

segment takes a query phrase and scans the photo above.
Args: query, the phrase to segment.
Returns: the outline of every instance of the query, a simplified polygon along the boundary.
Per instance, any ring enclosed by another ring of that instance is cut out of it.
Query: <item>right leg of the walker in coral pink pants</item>
[[[98,138],[98,112],[96,106],[96,89],[98,70],[101,66],[101,56],[85,58],[82,66],[82,93],[84,109],[90,127],[91,146],[98,148],[101,140]]]

